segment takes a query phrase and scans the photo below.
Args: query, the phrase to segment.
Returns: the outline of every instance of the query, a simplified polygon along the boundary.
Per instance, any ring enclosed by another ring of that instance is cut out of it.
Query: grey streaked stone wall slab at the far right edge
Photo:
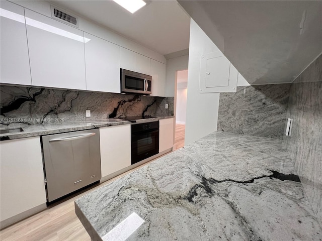
[[[322,226],[322,55],[291,85],[287,117],[291,136],[283,139]]]

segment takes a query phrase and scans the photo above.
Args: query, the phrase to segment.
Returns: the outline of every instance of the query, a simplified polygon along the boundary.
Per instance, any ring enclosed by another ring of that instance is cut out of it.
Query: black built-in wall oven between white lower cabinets
[[[131,125],[131,164],[159,153],[159,122]]]

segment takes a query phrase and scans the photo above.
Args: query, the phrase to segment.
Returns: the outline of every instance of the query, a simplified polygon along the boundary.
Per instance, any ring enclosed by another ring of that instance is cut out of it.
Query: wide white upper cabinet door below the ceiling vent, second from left
[[[28,9],[25,14],[32,84],[86,89],[84,32]]]

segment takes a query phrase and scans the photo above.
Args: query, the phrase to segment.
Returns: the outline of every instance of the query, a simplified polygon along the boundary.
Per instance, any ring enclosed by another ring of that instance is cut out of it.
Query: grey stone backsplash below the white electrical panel
[[[217,130],[282,139],[290,86],[238,86],[220,93]]]

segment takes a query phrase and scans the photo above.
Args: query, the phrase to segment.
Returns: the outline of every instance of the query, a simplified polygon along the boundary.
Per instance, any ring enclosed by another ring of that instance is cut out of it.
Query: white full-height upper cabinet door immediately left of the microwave
[[[120,93],[120,46],[84,33],[87,90]]]

